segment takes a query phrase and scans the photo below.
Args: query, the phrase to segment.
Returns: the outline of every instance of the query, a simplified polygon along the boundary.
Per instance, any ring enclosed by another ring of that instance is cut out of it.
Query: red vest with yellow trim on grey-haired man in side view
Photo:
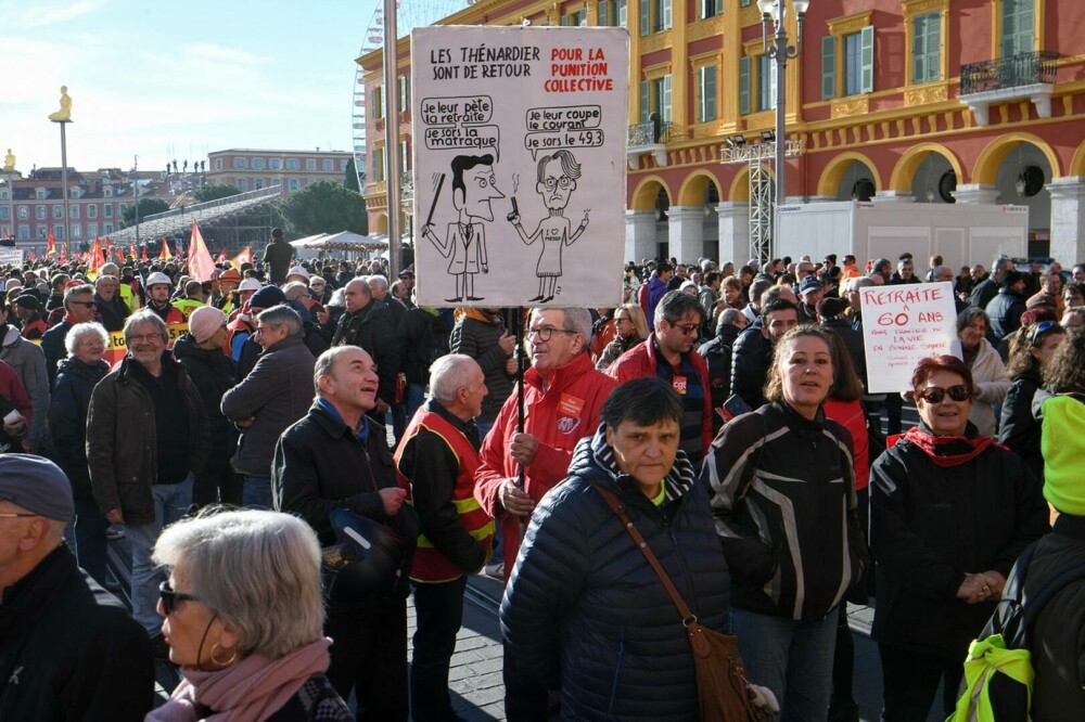
[[[456,488],[452,490],[451,502],[459,512],[460,521],[463,528],[478,544],[486,551],[486,559],[494,545],[494,519],[483,511],[482,506],[474,498],[474,472],[478,468],[478,452],[475,451],[471,442],[445,418],[431,411],[420,410],[411,420],[405,439],[413,438],[420,430],[425,428],[437,435],[448,444],[449,450],[456,454],[459,462],[460,473],[456,477]],[[407,490],[407,503],[413,505],[413,482],[399,473],[399,460],[407,443],[400,443],[396,449],[396,477],[399,486]],[[414,551],[414,562],[411,565],[410,578],[418,582],[446,582],[459,579],[463,570],[448,560],[438,552],[433,543],[419,534],[418,547]]]

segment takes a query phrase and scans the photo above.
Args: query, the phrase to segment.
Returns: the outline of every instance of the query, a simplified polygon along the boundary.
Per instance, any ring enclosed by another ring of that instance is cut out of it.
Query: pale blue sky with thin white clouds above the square
[[[0,154],[164,168],[229,147],[352,145],[354,59],[376,0],[0,0]],[[400,21],[403,22],[403,21]]]

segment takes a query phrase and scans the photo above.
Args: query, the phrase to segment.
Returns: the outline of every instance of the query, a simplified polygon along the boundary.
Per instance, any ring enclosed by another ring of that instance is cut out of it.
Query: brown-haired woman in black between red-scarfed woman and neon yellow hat
[[[1007,363],[1010,390],[1003,401],[1001,423],[998,442],[1021,456],[1037,479],[1044,478],[1044,455],[1039,451],[1039,422],[1032,410],[1033,397],[1043,386],[1044,369],[1051,362],[1055,351],[1065,337],[1067,330],[1046,309],[1043,320],[1018,328],[1010,340],[1010,358]],[[1022,317],[1024,321],[1024,317]]]

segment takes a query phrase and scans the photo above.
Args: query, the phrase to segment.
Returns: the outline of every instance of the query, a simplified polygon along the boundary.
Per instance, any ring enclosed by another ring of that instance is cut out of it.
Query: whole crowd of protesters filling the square
[[[526,314],[277,231],[207,282],[0,272],[0,719],[454,720],[487,573],[514,722],[697,719],[667,577],[781,720],[858,720],[872,604],[883,719],[922,720],[1022,552],[1033,588],[1085,556],[1085,266],[644,260],[616,307]],[[870,394],[861,289],[942,282],[959,354]],[[1037,618],[1034,720],[1085,717],[1083,594]]]

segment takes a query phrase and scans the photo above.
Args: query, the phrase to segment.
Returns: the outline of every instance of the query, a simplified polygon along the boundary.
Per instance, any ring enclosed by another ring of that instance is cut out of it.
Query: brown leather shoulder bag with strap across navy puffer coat
[[[648,546],[644,537],[629,519],[625,504],[612,492],[596,486],[600,495],[607,501],[615,515],[622,519],[625,530],[633,537],[637,547],[659,575],[660,581],[671,595],[671,601],[678,607],[681,615],[681,626],[689,636],[689,646],[693,653],[693,665],[697,669],[697,696],[701,706],[701,722],[761,722],[768,720],[767,713],[753,704],[746,692],[750,680],[745,666],[739,655],[738,637],[702,627],[697,616],[686,606],[678,594],[671,577],[663,569],[655,554]]]

